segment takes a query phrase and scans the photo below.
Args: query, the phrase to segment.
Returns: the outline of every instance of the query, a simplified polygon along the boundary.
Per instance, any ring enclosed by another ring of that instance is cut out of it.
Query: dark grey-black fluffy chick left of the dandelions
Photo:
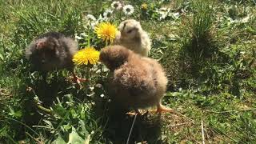
[[[68,69],[74,75],[74,81],[80,82],[74,74],[72,58],[78,51],[78,43],[58,32],[48,32],[35,38],[26,49],[26,58],[35,70],[42,71],[44,75],[51,70]]]

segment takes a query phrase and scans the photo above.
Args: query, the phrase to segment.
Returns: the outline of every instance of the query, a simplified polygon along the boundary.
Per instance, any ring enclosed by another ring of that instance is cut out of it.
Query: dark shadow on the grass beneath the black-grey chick
[[[17,93],[20,94],[19,97],[21,97],[21,122],[23,124],[12,122],[14,125],[17,123],[17,126],[14,127],[16,129],[15,131],[18,133],[14,139],[20,140],[26,138],[27,135],[25,132],[34,136],[36,129],[33,128],[33,126],[38,126],[42,118],[44,118],[46,111],[38,109],[38,104],[34,99],[35,97],[38,97],[41,106],[49,109],[50,106],[54,105],[57,97],[63,98],[65,94],[74,92],[72,91],[74,89],[70,88],[70,82],[58,72],[49,74],[46,80],[42,78],[41,74],[35,74],[34,78],[26,77],[22,79],[21,86],[18,88]],[[35,135],[34,138],[37,138],[37,136]]]

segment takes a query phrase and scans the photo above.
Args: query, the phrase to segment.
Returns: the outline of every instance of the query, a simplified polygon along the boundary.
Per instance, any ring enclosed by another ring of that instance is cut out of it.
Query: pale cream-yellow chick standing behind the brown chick
[[[118,30],[120,32],[117,34],[114,44],[125,46],[142,56],[148,56],[151,41],[146,31],[142,30],[140,22],[128,19],[120,23]]]

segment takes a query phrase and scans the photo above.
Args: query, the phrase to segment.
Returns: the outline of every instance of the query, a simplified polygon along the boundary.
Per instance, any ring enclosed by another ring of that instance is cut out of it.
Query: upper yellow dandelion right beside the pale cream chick
[[[110,24],[110,22],[102,22],[95,27],[95,33],[98,35],[98,38],[102,38],[105,42],[113,42],[117,31],[116,26]]]

